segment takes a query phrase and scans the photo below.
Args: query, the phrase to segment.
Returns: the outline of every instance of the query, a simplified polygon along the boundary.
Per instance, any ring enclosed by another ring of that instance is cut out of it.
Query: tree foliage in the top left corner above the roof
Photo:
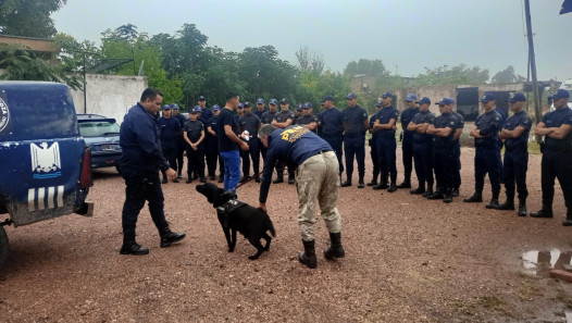
[[[57,30],[50,17],[66,0],[0,1],[0,34],[50,38]]]

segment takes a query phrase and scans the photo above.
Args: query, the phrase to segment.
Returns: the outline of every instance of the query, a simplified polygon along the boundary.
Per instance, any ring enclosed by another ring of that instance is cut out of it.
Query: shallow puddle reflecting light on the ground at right
[[[554,269],[563,270],[564,264],[572,264],[572,251],[550,251],[531,250],[522,253],[522,264],[524,272],[531,275],[548,276]]]

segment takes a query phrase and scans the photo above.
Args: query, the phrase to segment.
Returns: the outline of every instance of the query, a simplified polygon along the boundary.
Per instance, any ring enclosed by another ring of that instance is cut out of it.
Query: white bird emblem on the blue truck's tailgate
[[[41,147],[36,144],[29,145],[32,157],[32,172],[35,179],[55,178],[62,175],[62,164],[60,160],[60,145],[53,142],[48,148],[48,142],[41,142]]]

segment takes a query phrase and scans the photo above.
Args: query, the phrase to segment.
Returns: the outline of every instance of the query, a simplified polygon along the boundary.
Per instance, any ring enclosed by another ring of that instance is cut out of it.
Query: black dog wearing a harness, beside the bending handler
[[[206,196],[216,209],[219,222],[221,222],[228,244],[228,252],[233,252],[235,249],[237,231],[257,248],[257,253],[248,257],[248,259],[256,260],[262,251],[269,250],[272,238],[266,234],[266,231],[270,231],[273,237],[276,236],[276,232],[266,212],[235,200],[232,191],[224,190],[212,183],[197,185],[197,191]],[[266,246],[262,247],[261,238],[266,240]]]

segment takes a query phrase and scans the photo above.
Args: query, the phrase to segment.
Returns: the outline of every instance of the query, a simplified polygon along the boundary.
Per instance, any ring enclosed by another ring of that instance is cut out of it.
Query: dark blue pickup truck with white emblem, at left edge
[[[0,268],[8,254],[4,225],[91,216],[91,185],[90,150],[67,86],[0,82]]]

